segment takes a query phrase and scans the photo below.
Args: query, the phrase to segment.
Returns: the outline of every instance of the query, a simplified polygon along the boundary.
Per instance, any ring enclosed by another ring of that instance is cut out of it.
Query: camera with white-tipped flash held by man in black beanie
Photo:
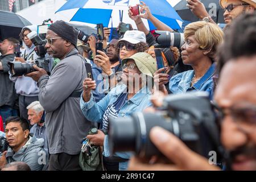
[[[39,68],[43,68],[48,75],[50,75],[49,71],[49,59],[46,59],[46,41],[42,40],[38,34],[36,34],[35,31],[30,32],[30,34],[27,35],[28,39],[32,41],[32,43],[35,45],[35,52],[36,55],[39,57],[35,60],[35,63],[20,63],[18,61],[10,61],[8,64],[10,64],[10,73],[11,76],[22,76],[26,75],[27,73],[31,73],[36,71],[33,68],[33,65],[37,65]]]

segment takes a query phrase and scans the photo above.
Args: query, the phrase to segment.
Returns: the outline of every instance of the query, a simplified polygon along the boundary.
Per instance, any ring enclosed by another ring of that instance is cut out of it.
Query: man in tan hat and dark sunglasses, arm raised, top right
[[[187,0],[187,6],[198,18],[214,23],[208,14],[204,4],[199,0]],[[224,20],[226,24],[232,22],[237,16],[244,13],[253,13],[256,9],[255,0],[220,0],[220,6],[224,9]]]

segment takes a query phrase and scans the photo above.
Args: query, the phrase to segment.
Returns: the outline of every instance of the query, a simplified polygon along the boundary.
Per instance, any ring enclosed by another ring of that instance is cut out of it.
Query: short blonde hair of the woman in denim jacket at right
[[[208,56],[214,59],[217,47],[222,43],[224,33],[217,24],[204,21],[189,23],[184,30],[184,38],[195,35],[200,49],[210,50]]]

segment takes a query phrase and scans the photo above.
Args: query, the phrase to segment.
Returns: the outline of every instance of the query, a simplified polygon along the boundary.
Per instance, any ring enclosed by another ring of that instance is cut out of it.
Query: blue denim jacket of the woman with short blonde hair
[[[189,70],[186,72],[179,73],[170,79],[169,89],[172,93],[185,93],[188,91],[207,91],[209,92],[209,97],[213,97],[213,75],[215,71],[215,63],[213,63],[208,71],[200,78],[193,86],[191,86],[191,81],[194,76],[194,71]]]

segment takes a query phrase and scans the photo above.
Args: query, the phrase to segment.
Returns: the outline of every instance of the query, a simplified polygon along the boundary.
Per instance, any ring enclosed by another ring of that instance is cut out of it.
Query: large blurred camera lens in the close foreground
[[[170,119],[164,118],[160,114],[135,113],[129,118],[110,118],[110,153],[135,151],[141,157],[162,155],[149,138],[150,130],[154,126],[161,126],[172,132]]]

